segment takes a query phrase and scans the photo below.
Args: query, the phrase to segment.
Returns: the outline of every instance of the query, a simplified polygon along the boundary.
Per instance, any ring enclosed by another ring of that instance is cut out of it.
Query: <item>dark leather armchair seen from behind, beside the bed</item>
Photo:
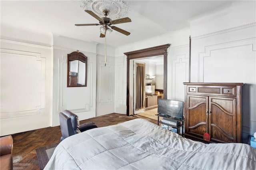
[[[60,112],[59,116],[60,130],[62,134],[62,137],[60,138],[61,141],[68,136],[72,136],[74,134],[84,132],[85,130],[89,130],[92,128],[97,128],[94,122],[79,125],[78,116],[68,110]]]

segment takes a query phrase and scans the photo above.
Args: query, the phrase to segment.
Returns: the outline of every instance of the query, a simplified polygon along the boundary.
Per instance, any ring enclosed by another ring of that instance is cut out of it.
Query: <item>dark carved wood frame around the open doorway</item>
[[[127,93],[126,93],[126,115],[130,115],[130,59],[138,59],[145,57],[152,57],[157,55],[164,55],[164,99],[167,99],[167,49],[171,44],[159,45],[156,47],[150,47],[140,49],[136,51],[130,51],[124,53],[127,56]]]

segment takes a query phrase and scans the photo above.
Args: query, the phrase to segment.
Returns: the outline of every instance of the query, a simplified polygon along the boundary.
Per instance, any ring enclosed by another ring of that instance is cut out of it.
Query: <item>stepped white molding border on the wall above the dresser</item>
[[[198,53],[198,82],[204,82],[204,59],[206,57],[211,57],[211,51],[228,49],[234,47],[241,47],[249,45],[252,51],[256,50],[256,37],[247,38],[243,40],[237,40],[232,42],[219,43],[214,45],[204,46],[204,51]]]

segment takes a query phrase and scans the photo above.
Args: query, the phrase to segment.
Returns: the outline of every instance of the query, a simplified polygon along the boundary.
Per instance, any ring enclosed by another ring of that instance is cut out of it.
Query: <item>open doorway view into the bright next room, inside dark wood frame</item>
[[[134,77],[131,78],[130,83],[133,82],[133,114],[142,114],[148,117],[155,117],[157,113],[157,101],[163,98],[163,84],[164,84],[164,56],[145,57],[142,59],[133,59]],[[138,109],[136,102],[137,94],[137,63],[145,65],[144,72],[144,107]],[[132,91],[132,89],[130,89]],[[145,112],[146,111],[146,112]],[[156,117],[157,118],[157,117]]]

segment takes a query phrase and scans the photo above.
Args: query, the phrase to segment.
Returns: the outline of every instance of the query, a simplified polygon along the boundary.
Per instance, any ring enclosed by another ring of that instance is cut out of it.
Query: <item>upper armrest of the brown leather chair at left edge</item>
[[[0,138],[0,156],[12,154],[13,139],[11,135]]]

